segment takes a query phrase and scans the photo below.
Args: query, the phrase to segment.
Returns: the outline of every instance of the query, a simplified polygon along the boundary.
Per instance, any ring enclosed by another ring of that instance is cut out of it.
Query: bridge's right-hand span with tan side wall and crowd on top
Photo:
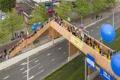
[[[91,36],[88,34],[85,34],[82,29],[74,27],[62,19],[56,18],[55,20],[51,21],[50,27],[60,33],[65,39],[76,46],[76,48],[82,51],[85,55],[90,54],[93,56],[95,59],[95,64],[97,66],[103,68],[117,80],[120,80],[120,77],[113,72],[110,66],[110,58],[114,50],[108,48],[99,41],[97,43],[96,39],[91,38]],[[102,51],[102,54],[100,53],[100,49]]]

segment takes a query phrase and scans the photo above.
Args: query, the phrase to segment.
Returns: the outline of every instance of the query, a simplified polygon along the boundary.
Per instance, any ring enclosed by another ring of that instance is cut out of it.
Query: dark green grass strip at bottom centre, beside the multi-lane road
[[[84,80],[84,58],[78,56],[44,80]]]

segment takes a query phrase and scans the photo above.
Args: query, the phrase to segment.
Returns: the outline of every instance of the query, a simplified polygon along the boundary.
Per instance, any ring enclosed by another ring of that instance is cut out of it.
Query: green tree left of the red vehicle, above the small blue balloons
[[[33,24],[34,22],[44,22],[48,19],[47,9],[43,4],[40,4],[32,11],[32,18],[29,19],[29,24]]]

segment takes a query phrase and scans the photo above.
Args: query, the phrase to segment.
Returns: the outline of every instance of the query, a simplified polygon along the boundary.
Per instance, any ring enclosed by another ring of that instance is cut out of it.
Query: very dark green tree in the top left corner
[[[15,7],[16,0],[0,0],[0,10],[11,11]]]

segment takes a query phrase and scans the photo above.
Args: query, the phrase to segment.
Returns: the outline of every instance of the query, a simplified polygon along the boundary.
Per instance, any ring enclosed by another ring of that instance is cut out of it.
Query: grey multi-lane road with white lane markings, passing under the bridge
[[[30,80],[40,80],[43,76],[59,67],[68,57],[67,41],[39,52],[29,58]],[[27,80],[27,60],[23,60],[0,72],[0,80]]]

